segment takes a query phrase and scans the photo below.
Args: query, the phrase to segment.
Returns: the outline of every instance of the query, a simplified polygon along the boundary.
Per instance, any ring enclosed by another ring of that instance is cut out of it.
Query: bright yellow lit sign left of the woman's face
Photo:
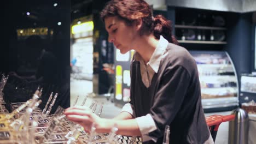
[[[94,30],[93,21],[83,22],[78,25],[74,25],[71,28],[72,34],[84,33],[84,32],[93,31],[93,30]]]

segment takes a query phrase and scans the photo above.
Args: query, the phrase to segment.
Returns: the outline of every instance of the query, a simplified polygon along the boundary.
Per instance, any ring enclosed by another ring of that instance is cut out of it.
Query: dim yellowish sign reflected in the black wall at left
[[[27,37],[30,35],[48,35],[48,28],[39,27],[39,28],[25,28],[17,29],[18,37]]]

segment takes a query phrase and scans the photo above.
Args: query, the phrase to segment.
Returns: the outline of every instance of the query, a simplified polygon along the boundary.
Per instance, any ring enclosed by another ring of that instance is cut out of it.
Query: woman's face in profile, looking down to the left
[[[118,19],[117,16],[107,17],[104,21],[108,32],[108,41],[113,43],[123,54],[132,50],[136,39],[135,26],[127,26],[125,21]]]

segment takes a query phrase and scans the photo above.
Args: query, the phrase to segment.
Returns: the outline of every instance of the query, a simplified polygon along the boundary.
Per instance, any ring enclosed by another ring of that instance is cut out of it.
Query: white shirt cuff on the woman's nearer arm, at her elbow
[[[153,140],[154,142],[156,142],[158,140],[157,137],[148,135],[150,132],[157,129],[154,119],[150,114],[147,114],[146,116],[142,116],[142,117],[137,117],[136,121],[137,121],[139,130],[141,131],[141,134],[142,134],[141,138],[143,142],[149,141],[149,140]]]

